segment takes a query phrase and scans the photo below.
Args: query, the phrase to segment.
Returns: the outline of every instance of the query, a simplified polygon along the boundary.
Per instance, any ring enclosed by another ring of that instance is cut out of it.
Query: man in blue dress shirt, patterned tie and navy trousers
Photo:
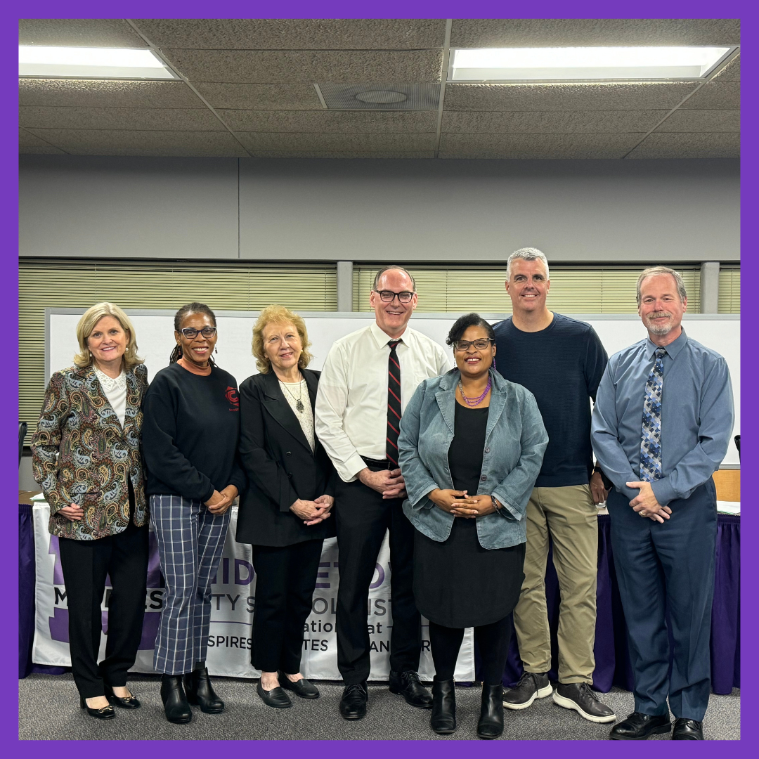
[[[733,408],[727,362],[682,329],[687,305],[678,272],[654,266],[641,273],[638,313],[648,337],[609,359],[593,412],[594,452],[614,486],[607,505],[635,676],[635,712],[613,727],[616,740],[669,732],[669,709],[673,740],[704,739],[712,474],[727,452]]]

